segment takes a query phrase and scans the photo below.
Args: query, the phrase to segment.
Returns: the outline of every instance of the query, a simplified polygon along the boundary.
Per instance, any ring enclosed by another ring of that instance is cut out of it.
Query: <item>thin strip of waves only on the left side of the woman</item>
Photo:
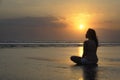
[[[79,47],[83,43],[60,43],[60,42],[46,42],[46,43],[0,43],[0,47]]]

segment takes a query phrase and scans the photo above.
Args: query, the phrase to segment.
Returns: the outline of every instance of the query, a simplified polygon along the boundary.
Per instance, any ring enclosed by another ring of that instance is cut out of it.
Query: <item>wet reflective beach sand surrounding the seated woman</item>
[[[0,80],[120,80],[120,46],[99,47],[96,67],[76,66],[82,47],[0,49]]]

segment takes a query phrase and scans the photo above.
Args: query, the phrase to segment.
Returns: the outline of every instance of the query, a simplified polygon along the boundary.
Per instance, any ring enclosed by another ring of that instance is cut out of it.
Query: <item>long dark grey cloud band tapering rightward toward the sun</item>
[[[57,17],[25,17],[0,20],[1,27],[65,27],[67,24]]]

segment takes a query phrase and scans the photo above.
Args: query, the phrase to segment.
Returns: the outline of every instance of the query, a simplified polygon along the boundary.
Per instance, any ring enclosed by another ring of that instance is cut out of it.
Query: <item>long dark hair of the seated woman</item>
[[[86,38],[90,40],[94,40],[96,43],[96,46],[98,47],[98,39],[97,39],[97,35],[94,29],[91,29],[91,28],[88,29]]]

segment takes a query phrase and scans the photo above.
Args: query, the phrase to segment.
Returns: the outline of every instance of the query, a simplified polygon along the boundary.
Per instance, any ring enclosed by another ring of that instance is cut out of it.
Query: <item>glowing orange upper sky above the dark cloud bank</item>
[[[120,1],[118,0],[2,0],[0,2],[0,17],[41,17],[52,15],[64,17],[66,21],[72,22],[76,26],[79,24],[96,26],[96,24],[107,21],[116,23],[116,20],[120,20],[119,5]],[[104,23],[105,26],[107,24]],[[119,25],[114,28],[119,28]]]

